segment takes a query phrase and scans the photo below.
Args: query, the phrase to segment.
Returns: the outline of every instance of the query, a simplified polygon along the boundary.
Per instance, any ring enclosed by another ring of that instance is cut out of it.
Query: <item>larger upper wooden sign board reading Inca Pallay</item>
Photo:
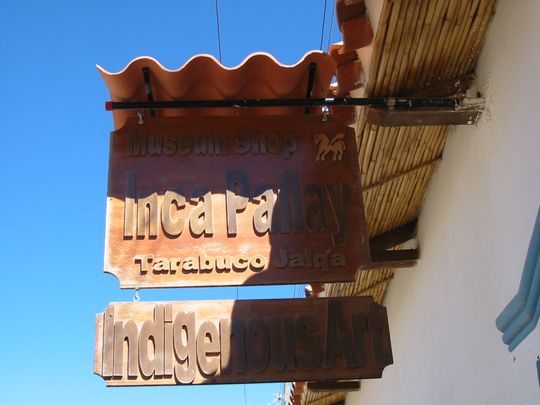
[[[352,128],[153,118],[111,134],[105,271],[122,288],[350,281],[368,262]]]

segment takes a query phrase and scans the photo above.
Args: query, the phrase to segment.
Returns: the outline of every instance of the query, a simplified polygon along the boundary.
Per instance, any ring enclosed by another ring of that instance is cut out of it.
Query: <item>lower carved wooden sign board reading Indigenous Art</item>
[[[96,332],[109,386],[379,378],[393,361],[372,297],[114,303]]]

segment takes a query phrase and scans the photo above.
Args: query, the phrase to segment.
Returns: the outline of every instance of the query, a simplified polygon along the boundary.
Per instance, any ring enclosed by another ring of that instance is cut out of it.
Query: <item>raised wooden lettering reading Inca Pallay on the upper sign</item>
[[[267,232],[328,231],[330,217],[334,216],[336,229],[331,234],[332,245],[344,245],[347,241],[346,203],[350,184],[306,184],[304,192],[300,193],[297,171],[278,171],[279,191],[275,192],[270,186],[255,185],[255,191],[252,192],[246,172],[232,170],[227,171],[225,176],[226,212],[220,215],[227,217],[227,235],[234,236],[238,233],[237,215],[245,211],[248,202],[251,202],[258,205],[253,211],[253,231],[259,236]],[[139,239],[157,238],[158,228],[163,236],[175,238],[182,234],[184,226],[189,226],[191,234],[195,236],[214,234],[213,217],[219,214],[212,209],[212,193],[209,187],[196,188],[191,197],[184,195],[179,189],[167,190],[160,204],[155,192],[146,191],[142,196],[136,194],[136,175],[128,173],[127,189],[124,201],[124,238],[133,238],[134,235]],[[278,193],[280,204],[276,204]],[[304,209],[304,201],[308,199],[315,201]],[[182,217],[180,212],[188,210],[187,201],[193,205],[189,218]]]

